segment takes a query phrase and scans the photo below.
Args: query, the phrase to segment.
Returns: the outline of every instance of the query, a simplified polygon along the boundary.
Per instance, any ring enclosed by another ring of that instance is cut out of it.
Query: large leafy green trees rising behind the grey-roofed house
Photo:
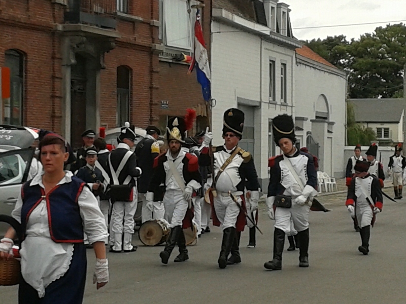
[[[359,40],[343,35],[304,42],[313,51],[349,73],[350,98],[392,98],[402,88],[406,63],[406,25],[377,27]]]

